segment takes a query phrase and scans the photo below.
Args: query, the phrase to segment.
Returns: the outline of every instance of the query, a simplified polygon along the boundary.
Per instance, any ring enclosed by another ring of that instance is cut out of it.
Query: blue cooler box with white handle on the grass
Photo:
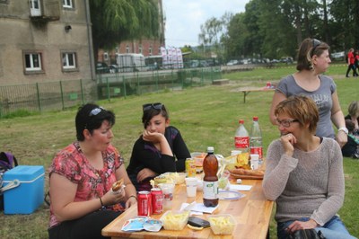
[[[3,175],[4,214],[31,214],[44,200],[43,166],[19,165]]]

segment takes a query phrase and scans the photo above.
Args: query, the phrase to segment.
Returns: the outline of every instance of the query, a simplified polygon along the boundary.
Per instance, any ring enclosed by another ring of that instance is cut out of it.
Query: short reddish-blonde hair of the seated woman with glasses
[[[276,106],[275,115],[287,114],[294,120],[298,120],[303,127],[309,124],[311,133],[315,133],[320,113],[315,102],[305,95],[292,95]]]

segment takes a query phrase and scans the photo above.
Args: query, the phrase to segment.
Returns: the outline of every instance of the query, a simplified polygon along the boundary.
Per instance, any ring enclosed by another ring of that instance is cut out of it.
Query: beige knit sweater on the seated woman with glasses
[[[276,139],[267,150],[263,190],[267,199],[276,200],[276,221],[311,217],[323,226],[344,201],[340,146],[324,137],[316,150],[294,148],[293,157],[289,157]]]

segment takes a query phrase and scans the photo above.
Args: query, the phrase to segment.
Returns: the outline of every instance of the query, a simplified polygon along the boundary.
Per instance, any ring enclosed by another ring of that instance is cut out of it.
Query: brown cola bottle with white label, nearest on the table
[[[206,207],[216,207],[218,205],[218,161],[215,157],[215,148],[207,147],[207,155],[203,160],[203,204]]]

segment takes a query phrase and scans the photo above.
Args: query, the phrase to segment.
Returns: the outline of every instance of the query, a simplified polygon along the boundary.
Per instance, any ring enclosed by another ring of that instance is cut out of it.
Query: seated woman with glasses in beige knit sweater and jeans
[[[291,96],[274,113],[281,137],[268,146],[262,185],[276,201],[278,238],[311,228],[327,239],[355,238],[337,216],[345,195],[342,153],[334,139],[314,135],[315,102]]]

